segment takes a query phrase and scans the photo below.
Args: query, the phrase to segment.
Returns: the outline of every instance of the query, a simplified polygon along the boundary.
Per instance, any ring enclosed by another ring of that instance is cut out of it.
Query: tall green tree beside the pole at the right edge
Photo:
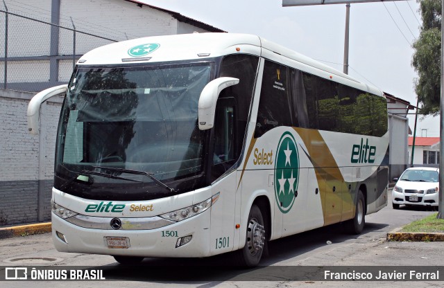
[[[422,26],[420,36],[413,43],[415,53],[411,62],[418,73],[415,92],[422,108],[421,114],[439,113],[441,95],[441,2],[418,0]]]

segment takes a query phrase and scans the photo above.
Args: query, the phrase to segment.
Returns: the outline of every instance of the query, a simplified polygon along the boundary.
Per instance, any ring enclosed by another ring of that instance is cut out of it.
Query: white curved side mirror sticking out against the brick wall
[[[26,116],[28,117],[28,130],[29,133],[33,135],[39,134],[39,116],[40,116],[40,105],[49,98],[67,93],[68,85],[60,85],[56,87],[51,87],[45,89],[37,94],[31,99],[28,104],[28,111]]]

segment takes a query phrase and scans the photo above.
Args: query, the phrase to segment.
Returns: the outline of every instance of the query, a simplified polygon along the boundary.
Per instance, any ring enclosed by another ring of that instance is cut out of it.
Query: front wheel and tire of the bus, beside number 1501
[[[236,251],[237,264],[241,267],[255,267],[262,258],[266,244],[264,217],[256,204],[251,206],[246,229],[245,246]]]

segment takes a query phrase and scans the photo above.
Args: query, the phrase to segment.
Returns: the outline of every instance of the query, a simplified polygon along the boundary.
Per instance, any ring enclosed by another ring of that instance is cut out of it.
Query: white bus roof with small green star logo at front
[[[95,48],[83,55],[79,66],[205,60],[235,53],[264,56],[288,66],[382,96],[376,87],[361,83],[330,66],[262,37],[237,33],[193,33],[143,37]],[[275,58],[275,59],[273,59]]]

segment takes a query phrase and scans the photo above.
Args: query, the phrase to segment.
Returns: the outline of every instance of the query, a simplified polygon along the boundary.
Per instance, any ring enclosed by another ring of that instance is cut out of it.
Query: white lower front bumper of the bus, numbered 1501
[[[52,236],[60,252],[128,255],[143,257],[210,256],[210,209],[180,222],[151,230],[105,230],[84,228],[52,214]],[[58,233],[59,234],[58,234]],[[60,233],[65,240],[60,238]],[[176,248],[179,237],[191,241]],[[128,237],[128,248],[108,248],[105,237]]]

